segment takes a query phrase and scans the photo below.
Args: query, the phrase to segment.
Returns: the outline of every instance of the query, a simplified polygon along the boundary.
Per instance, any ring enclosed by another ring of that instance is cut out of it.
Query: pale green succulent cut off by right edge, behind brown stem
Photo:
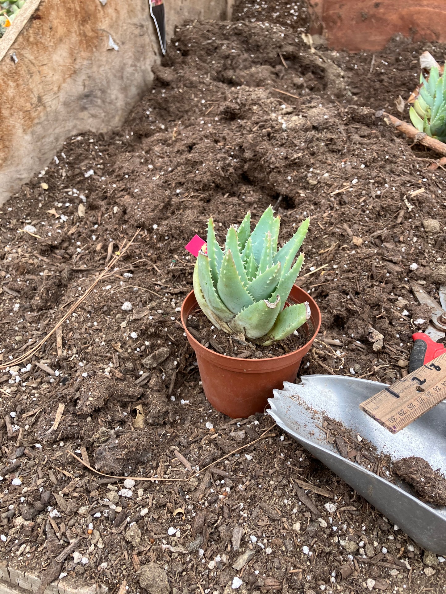
[[[414,127],[443,143],[446,141],[446,77],[432,67],[428,80],[420,74],[419,94],[410,107]]]

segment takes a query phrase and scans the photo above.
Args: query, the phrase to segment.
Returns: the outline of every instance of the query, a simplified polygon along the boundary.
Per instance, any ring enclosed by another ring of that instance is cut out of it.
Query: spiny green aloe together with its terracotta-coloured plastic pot
[[[236,230],[228,229],[222,249],[212,218],[208,239],[194,267],[194,290],[181,307],[181,321],[193,347],[203,390],[217,410],[232,418],[262,412],[274,388],[294,381],[300,362],[321,326],[316,302],[294,283],[304,261],[296,258],[306,236],[309,219],[278,249],[280,217],[269,206],[251,233],[250,213]],[[238,343],[269,346],[286,339],[310,321],[306,343],[297,350],[269,358],[240,359],[203,346],[188,329],[197,308],[209,321]]]

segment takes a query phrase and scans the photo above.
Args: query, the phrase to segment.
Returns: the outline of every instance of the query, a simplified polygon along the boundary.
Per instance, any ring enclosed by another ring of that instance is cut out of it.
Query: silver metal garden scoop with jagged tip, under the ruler
[[[327,416],[368,440],[378,454],[388,454],[392,460],[419,456],[446,473],[446,401],[392,434],[359,407],[389,388],[387,384],[340,375],[308,375],[301,380],[301,384],[285,382],[283,390],[274,390],[274,398],[268,400],[269,415],[420,546],[445,555],[446,507],[423,503],[409,485],[390,482],[340,456],[317,425]]]

